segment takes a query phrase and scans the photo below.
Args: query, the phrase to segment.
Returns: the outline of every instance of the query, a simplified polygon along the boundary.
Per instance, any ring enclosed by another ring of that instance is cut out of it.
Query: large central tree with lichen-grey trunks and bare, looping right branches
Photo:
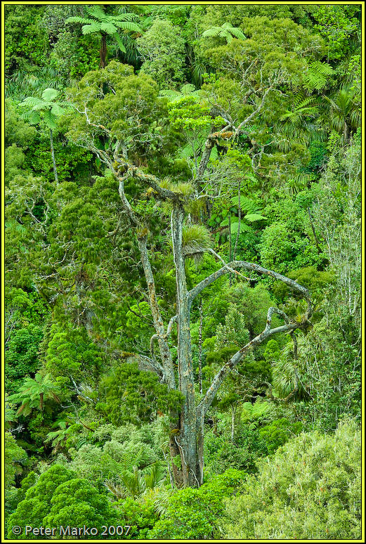
[[[200,486],[202,484],[204,418],[226,377],[252,349],[273,335],[289,333],[296,343],[294,331],[306,329],[309,326],[312,304],[308,290],[275,271],[247,261],[232,261],[226,264],[216,255],[223,266],[189,289],[185,269],[187,257],[211,250],[208,238],[202,236],[204,228],[202,232],[197,231],[197,228],[192,231],[192,224],[188,221],[192,207],[197,205],[197,201],[206,201],[212,196],[208,190],[209,184],[204,181],[211,151],[223,140],[235,138],[244,131],[246,125],[263,108],[268,93],[281,84],[281,78],[281,74],[274,72],[268,79],[267,86],[258,93],[256,104],[251,107],[246,116],[239,120],[233,121],[230,116],[226,118],[223,109],[221,109],[221,115],[217,115],[214,108],[210,109],[209,106],[207,106],[208,109],[201,106],[197,106],[196,110],[193,108],[197,114],[196,117],[184,120],[185,110],[183,110],[181,115],[183,124],[185,122],[191,129],[202,131],[202,134],[206,131],[200,150],[200,163],[189,183],[159,179],[143,168],[149,154],[161,153],[164,145],[169,143],[169,124],[164,136],[162,117],[165,115],[166,119],[166,114],[157,98],[157,85],[150,77],[133,75],[131,67],[110,63],[105,70],[90,72],[81,80],[79,86],[70,92],[70,99],[78,113],[70,116],[68,135],[75,143],[92,150],[114,176],[121,202],[120,221],[129,225],[140,253],[155,334],[152,335],[150,341],[151,356],[139,357],[138,360],[141,367],[146,365],[149,370],[157,373],[160,380],[170,389],[180,391],[184,396],[180,411],[171,411],[171,456],[176,458],[178,455],[181,459],[181,468],[173,463],[174,477],[178,485]],[[131,182],[140,191],[144,189],[154,197],[157,205],[161,204],[164,205],[164,209],[169,209],[170,243],[176,276],[176,313],[167,323],[164,323],[164,316],[159,305],[152,255],[149,251],[148,209],[138,207],[133,202],[129,190]],[[211,381],[210,387],[207,391],[203,391],[202,399],[197,402],[190,340],[192,304],[206,287],[225,274],[234,273],[242,277],[237,269],[280,280],[297,297],[306,300],[306,310],[300,318],[291,320],[284,311],[270,307],[265,328],[225,361]],[[274,316],[283,320],[283,324],[273,325]],[[175,325],[178,338],[177,366],[169,347],[169,337]],[[158,354],[155,354],[153,349],[155,343],[159,348]]]

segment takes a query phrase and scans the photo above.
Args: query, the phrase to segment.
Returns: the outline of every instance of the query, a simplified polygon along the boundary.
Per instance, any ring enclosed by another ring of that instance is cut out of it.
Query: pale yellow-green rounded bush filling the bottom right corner
[[[258,477],[226,503],[225,538],[361,538],[361,435],[300,434],[259,462]]]

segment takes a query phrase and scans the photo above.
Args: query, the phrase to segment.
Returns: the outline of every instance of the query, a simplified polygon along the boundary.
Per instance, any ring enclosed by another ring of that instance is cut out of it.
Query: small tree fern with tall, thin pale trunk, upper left
[[[44,89],[42,98],[28,96],[20,104],[20,106],[30,108],[30,110],[21,115],[23,119],[27,119],[27,121],[32,124],[39,124],[43,120],[50,131],[51,157],[56,183],[58,183],[58,174],[55,162],[55,151],[53,150],[53,130],[56,129],[57,117],[60,117],[60,115],[65,113],[65,107],[67,106],[67,103],[65,102],[55,102],[55,99],[59,94],[59,91],[56,91],[56,89]]]

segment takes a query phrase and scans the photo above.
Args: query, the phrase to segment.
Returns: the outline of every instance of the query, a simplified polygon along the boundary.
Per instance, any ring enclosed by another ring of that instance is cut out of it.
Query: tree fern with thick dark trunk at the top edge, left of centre
[[[139,25],[133,22],[137,15],[135,13],[122,13],[121,15],[107,15],[100,6],[88,8],[85,6],[85,11],[89,18],[69,17],[65,22],[79,22],[81,32],[83,34],[95,34],[100,32],[100,67],[105,67],[105,59],[107,58],[107,36],[113,36],[117,41],[119,49],[126,53],[126,48],[119,37],[118,29],[127,30],[130,32],[141,32]]]

